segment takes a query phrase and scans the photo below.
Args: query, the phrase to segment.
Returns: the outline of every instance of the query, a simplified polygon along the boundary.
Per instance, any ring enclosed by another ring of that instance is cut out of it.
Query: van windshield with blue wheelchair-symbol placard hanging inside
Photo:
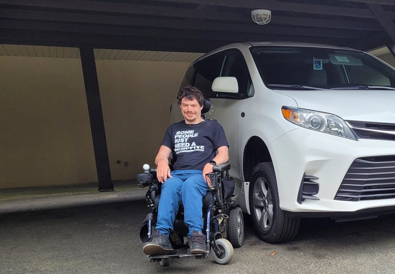
[[[355,50],[254,46],[252,57],[271,89],[393,89],[395,70]]]

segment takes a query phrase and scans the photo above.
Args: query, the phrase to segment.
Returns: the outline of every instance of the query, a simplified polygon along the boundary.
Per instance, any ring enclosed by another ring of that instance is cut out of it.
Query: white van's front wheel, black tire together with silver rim
[[[299,229],[300,218],[290,217],[280,209],[273,164],[258,164],[250,182],[250,212],[259,238],[268,243],[292,240]]]

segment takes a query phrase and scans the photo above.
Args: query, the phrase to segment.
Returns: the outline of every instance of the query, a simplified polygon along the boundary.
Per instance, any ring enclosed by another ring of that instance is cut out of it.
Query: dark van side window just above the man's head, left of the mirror
[[[224,54],[218,53],[206,57],[194,65],[197,70],[194,86],[203,93],[203,96],[216,97],[211,89],[211,85],[214,79],[220,76],[223,63]]]

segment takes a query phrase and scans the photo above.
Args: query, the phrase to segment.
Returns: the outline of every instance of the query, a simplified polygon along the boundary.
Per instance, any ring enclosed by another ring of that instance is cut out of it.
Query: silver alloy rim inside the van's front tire
[[[259,227],[265,231],[270,230],[273,224],[273,197],[265,178],[256,179],[252,199]]]

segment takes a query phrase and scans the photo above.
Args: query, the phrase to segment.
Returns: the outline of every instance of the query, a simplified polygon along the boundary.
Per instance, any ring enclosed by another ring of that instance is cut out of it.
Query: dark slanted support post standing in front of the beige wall
[[[87,93],[90,131],[92,132],[99,191],[113,191],[114,186],[111,181],[107,141],[105,140],[102,102],[100,101],[95,56],[92,48],[80,48],[79,51],[84,74],[85,92]]]

